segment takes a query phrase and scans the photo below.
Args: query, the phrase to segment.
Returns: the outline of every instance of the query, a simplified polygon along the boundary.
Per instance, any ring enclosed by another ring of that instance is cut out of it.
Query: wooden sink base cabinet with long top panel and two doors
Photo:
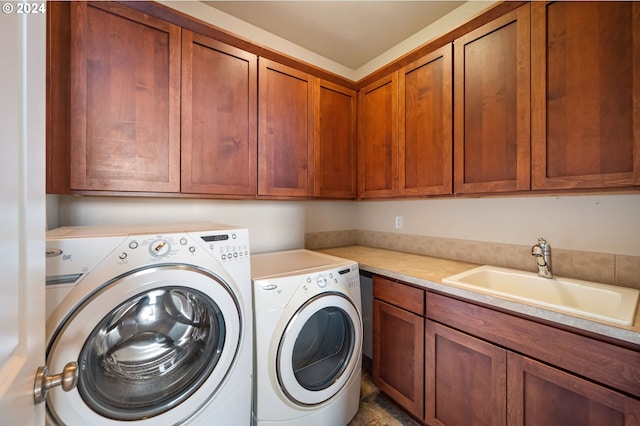
[[[427,424],[640,425],[637,350],[430,292],[426,312]]]

